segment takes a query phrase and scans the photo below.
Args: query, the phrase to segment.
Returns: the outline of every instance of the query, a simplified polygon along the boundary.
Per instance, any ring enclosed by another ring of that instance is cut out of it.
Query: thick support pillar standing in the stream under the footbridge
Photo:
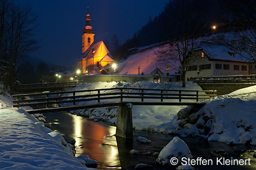
[[[123,103],[118,107],[116,136],[125,139],[133,138],[132,108],[131,103]]]

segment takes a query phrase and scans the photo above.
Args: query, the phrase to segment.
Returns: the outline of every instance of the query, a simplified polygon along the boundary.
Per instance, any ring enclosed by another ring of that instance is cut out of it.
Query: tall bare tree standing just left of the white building
[[[169,16],[164,21],[171,37],[169,44],[157,53],[160,64],[170,66],[180,72],[182,86],[185,87],[185,74],[188,71],[193,51],[199,48],[199,35],[204,28],[202,22],[206,5],[203,0],[174,0],[168,4]]]

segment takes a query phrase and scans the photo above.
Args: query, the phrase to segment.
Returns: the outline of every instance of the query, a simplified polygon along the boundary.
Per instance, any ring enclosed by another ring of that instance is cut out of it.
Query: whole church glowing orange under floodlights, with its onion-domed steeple
[[[112,73],[112,55],[103,41],[94,43],[94,34],[90,26],[90,15],[86,15],[86,26],[82,35],[82,60],[77,61],[77,67],[82,74]]]

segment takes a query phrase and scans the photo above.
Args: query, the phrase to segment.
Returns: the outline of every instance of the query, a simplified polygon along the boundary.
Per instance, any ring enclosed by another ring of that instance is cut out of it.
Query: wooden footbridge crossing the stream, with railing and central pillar
[[[205,103],[199,100],[214,97],[216,93],[216,90],[110,88],[18,94],[13,95],[13,102],[14,107],[40,107],[39,109],[26,110],[30,114],[118,106],[116,135],[128,139],[133,138],[133,105],[203,106]],[[86,105],[84,105],[84,102]],[[67,103],[68,106],[51,107],[63,103]]]

